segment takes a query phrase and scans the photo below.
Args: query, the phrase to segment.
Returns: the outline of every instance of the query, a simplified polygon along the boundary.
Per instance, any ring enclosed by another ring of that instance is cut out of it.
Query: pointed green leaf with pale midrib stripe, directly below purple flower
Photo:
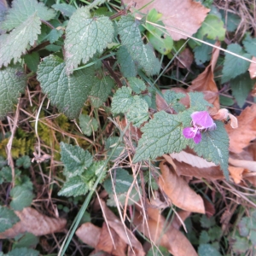
[[[228,162],[230,139],[224,124],[220,121],[215,122],[217,129],[214,131],[204,131],[201,143],[194,144],[195,153],[202,156],[205,160],[219,165],[224,172],[224,176],[229,180]]]

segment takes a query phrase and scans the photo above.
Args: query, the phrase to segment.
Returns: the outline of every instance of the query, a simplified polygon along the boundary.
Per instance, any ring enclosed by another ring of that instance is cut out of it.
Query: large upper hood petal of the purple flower
[[[199,129],[215,128],[215,124],[207,111],[196,111],[191,114],[192,122],[194,126],[198,126]]]

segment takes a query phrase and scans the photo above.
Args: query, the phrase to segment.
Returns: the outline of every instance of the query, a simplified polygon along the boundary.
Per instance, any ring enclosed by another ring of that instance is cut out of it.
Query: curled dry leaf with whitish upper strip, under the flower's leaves
[[[187,150],[187,149],[186,149]],[[189,150],[192,152],[192,150]],[[175,166],[175,171],[177,175],[207,178],[207,179],[223,179],[223,172],[220,170],[219,166],[214,165],[212,162],[207,162],[207,160],[201,157],[182,151],[179,154],[171,154],[168,156],[164,155],[165,159]]]

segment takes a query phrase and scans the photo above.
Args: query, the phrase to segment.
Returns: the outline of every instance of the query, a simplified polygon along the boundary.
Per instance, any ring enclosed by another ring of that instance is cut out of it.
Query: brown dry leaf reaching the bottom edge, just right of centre
[[[135,211],[133,224],[137,226],[145,236],[154,244],[166,247],[174,256],[195,256],[194,247],[183,233],[171,224],[166,229],[166,219],[161,216],[160,211],[156,208],[148,207],[148,219],[145,219],[141,214],[142,209],[137,207]]]

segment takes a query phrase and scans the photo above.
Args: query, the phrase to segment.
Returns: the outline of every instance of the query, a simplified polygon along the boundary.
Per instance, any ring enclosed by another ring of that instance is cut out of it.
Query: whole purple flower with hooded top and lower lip
[[[191,114],[191,118],[192,127],[184,128],[183,136],[193,138],[196,144],[201,142],[201,131],[216,129],[216,125],[207,111],[196,111]]]

